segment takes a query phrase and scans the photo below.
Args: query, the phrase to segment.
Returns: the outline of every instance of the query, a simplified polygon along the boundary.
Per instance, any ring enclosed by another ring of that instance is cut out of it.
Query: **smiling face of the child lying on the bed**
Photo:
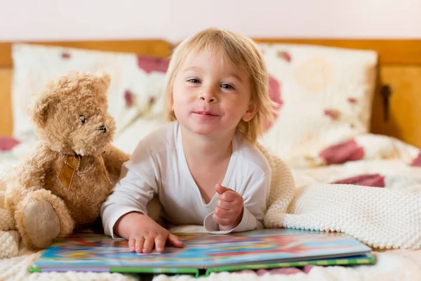
[[[173,84],[173,110],[182,126],[201,135],[232,133],[256,112],[248,74],[220,55],[201,52],[182,63]]]

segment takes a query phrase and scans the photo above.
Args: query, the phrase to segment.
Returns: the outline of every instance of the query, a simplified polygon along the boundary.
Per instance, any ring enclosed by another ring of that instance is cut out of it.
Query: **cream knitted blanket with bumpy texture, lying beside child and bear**
[[[266,228],[336,231],[377,249],[421,249],[420,195],[359,185],[296,188],[288,166],[262,145],[258,148],[272,167]],[[7,174],[0,169],[0,179]],[[0,208],[1,192],[0,181]],[[18,254],[19,237],[13,229],[13,217],[0,209],[0,258]]]

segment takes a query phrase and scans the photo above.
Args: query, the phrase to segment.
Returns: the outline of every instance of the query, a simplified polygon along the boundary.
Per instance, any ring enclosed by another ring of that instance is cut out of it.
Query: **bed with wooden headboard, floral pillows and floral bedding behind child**
[[[276,121],[260,140],[292,169],[296,186],[352,183],[421,194],[421,41],[255,39],[270,74]],[[112,72],[114,144],[131,152],[163,124],[162,83],[173,46],[161,40],[0,43],[0,178],[36,136],[32,91],[69,68]],[[291,121],[293,120],[293,121]],[[321,129],[315,129],[321,128]],[[1,193],[0,193],[1,195]],[[0,205],[1,207],[1,205]],[[138,280],[109,273],[27,273],[39,256],[20,245],[1,280]],[[374,266],[217,273],[209,280],[415,280],[421,250],[375,249]],[[189,280],[156,275],[154,280]]]

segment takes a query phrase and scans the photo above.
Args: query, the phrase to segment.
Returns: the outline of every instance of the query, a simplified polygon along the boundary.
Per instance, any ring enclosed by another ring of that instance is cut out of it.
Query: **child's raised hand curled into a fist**
[[[219,183],[215,185],[215,190],[220,196],[213,212],[213,221],[219,224],[220,230],[232,230],[243,218],[243,197]]]

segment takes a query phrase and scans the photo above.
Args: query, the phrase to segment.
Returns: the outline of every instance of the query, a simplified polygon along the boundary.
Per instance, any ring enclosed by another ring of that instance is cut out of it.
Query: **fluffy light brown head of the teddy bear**
[[[63,154],[98,155],[116,130],[108,114],[108,74],[67,72],[34,96],[29,117],[51,150]]]

